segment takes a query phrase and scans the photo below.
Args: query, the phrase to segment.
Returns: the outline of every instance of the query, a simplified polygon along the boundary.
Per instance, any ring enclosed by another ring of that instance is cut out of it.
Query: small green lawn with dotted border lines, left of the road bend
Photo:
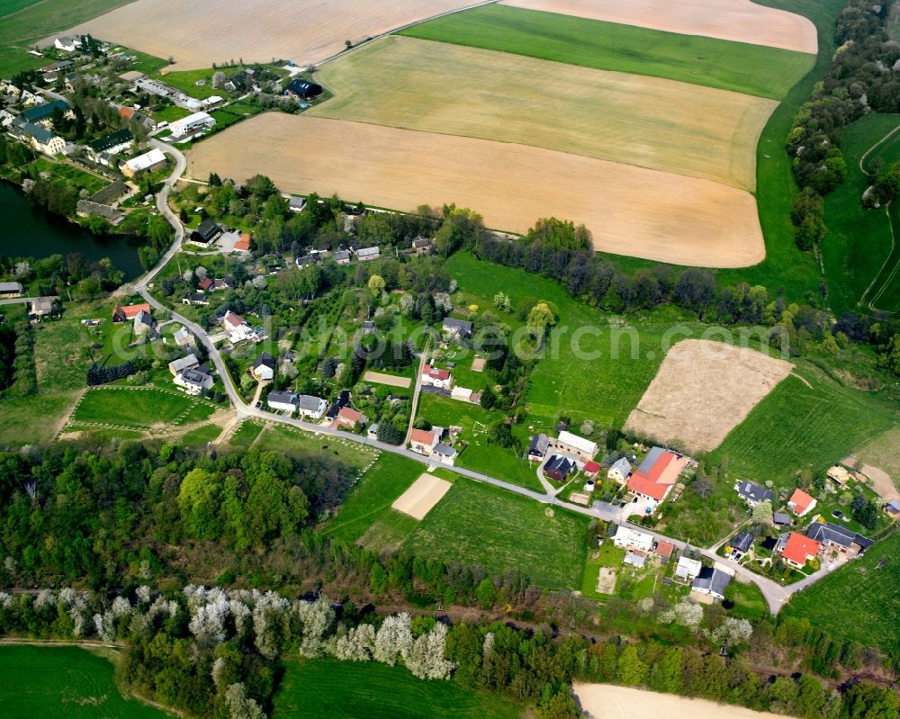
[[[197,402],[185,394],[155,388],[92,389],[78,403],[72,421],[138,428],[169,425]]]

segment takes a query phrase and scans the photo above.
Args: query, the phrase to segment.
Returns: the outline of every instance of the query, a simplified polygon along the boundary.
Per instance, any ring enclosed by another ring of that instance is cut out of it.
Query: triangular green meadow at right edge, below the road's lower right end
[[[785,607],[818,629],[844,640],[900,651],[900,532],[894,531]],[[878,564],[885,562],[883,566]]]

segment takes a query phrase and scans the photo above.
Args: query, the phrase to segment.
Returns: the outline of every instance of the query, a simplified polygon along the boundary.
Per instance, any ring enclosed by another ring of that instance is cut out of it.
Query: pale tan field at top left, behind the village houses
[[[466,0],[327,0],[298,7],[293,0],[178,3],[139,0],[82,22],[70,32],[90,32],[157,58],[175,58],[175,69],[245,62],[318,63],[354,44],[411,22],[472,4]],[[48,39],[50,42],[52,38]]]

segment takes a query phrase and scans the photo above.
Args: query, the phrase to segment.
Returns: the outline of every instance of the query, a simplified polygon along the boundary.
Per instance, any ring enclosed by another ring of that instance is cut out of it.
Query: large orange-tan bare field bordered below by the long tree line
[[[598,250],[675,265],[746,267],[765,256],[750,193],[503,142],[265,113],[196,145],[188,170],[238,181],[264,173],[284,192],[401,211],[455,202],[513,232],[564,217],[584,223]]]

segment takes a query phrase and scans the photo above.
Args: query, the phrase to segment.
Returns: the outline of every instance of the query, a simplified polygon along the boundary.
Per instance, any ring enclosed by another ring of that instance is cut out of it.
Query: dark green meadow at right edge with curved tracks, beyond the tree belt
[[[869,283],[876,279],[891,253],[891,220],[887,211],[885,208],[864,210],[860,205],[860,197],[870,184],[869,175],[860,169],[860,159],[898,126],[900,115],[872,112],[843,131],[841,148],[847,161],[847,179],[825,198],[828,234],[822,243],[825,273],[830,280],[829,297],[836,314],[857,309]],[[900,133],[873,149],[866,158],[867,167],[877,158],[886,167],[900,159]],[[896,210],[896,204],[892,204],[892,209]],[[861,242],[860,238],[865,241]],[[894,269],[896,262],[888,265],[886,269]],[[868,293],[868,301],[875,299],[883,283],[889,283],[887,274]],[[882,310],[900,309],[894,302],[900,302],[900,294],[896,297],[895,292],[886,294],[873,304]]]

